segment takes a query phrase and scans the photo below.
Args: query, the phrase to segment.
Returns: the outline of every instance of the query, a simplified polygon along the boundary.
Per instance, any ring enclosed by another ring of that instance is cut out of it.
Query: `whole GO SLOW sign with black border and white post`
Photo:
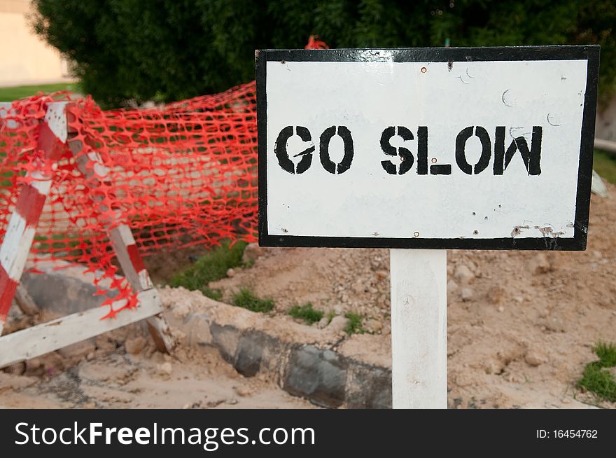
[[[447,407],[447,249],[586,248],[598,57],[256,53],[260,244],[391,249],[395,408]]]

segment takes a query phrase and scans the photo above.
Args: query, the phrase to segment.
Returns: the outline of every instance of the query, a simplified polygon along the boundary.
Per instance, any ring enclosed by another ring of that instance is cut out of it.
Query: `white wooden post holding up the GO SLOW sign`
[[[447,250],[389,256],[393,408],[447,408]]]

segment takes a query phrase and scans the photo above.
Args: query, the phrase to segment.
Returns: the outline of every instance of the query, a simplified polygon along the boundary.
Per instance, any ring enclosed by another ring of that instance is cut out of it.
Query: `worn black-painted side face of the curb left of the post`
[[[244,377],[265,372],[288,393],[321,407],[391,408],[391,369],[344,356],[330,345],[285,341],[252,328],[221,326],[202,314],[176,326],[209,328],[211,340],[201,338],[197,345],[216,347]]]

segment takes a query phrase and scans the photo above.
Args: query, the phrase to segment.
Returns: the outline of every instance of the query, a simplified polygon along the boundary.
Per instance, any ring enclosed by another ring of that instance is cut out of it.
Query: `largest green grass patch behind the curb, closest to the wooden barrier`
[[[223,242],[198,258],[189,268],[174,275],[169,285],[201,291],[209,298],[221,300],[223,296],[221,291],[211,289],[208,284],[226,277],[227,270],[241,265],[241,255],[244,254],[246,245],[246,242],[236,242],[230,247],[230,242]]]

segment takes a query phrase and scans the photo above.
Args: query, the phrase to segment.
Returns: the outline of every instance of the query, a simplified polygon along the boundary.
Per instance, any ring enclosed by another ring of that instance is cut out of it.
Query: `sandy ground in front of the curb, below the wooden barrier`
[[[172,357],[144,336],[116,348],[122,338],[103,336],[0,372],[0,408],[314,408],[265,378],[239,375],[215,349],[181,347]],[[97,349],[85,356],[88,347]]]

